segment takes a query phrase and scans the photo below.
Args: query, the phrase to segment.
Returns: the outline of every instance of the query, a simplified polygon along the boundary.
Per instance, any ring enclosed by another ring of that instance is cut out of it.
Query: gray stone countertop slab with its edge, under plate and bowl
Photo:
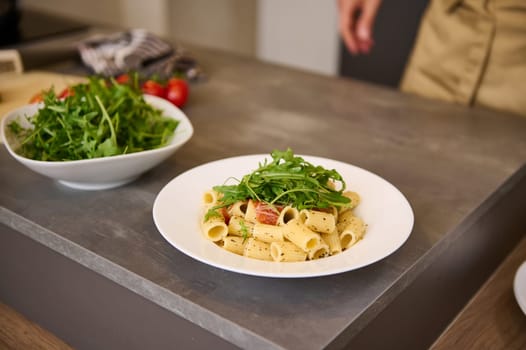
[[[208,80],[191,87],[184,111],[195,134],[173,157],[129,185],[80,191],[1,149],[0,223],[239,347],[319,349],[351,338],[526,160],[525,118],[211,50],[195,55]],[[178,174],[286,147],[391,182],[414,210],[407,242],[358,270],[279,279],[200,263],[157,231],[154,200]]]

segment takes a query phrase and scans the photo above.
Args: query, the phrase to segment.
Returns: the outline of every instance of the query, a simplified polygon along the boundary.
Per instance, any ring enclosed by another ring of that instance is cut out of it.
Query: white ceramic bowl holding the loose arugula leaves
[[[39,105],[27,105],[9,112],[2,118],[1,134],[8,152],[29,169],[58,180],[60,183],[83,190],[102,190],[129,183],[142,173],[170,157],[193,135],[194,129],[186,115],[169,101],[144,95],[146,102],[161,109],[165,116],[179,120],[170,144],[148,151],[72,161],[39,161],[25,158],[15,152],[17,140],[7,127],[20,117],[23,126],[29,125],[26,116],[34,115]],[[25,124],[24,124],[25,123]]]

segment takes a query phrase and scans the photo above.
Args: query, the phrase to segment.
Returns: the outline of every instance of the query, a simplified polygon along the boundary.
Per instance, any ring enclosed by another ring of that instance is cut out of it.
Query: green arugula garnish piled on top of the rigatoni
[[[312,165],[295,156],[290,148],[274,150],[270,155],[272,161],[265,159],[237,185],[214,186],[213,190],[221,195],[220,204],[208,210],[205,220],[217,215],[218,209],[247,199],[290,205],[298,210],[349,205],[350,199],[343,195],[345,181],[336,170]]]

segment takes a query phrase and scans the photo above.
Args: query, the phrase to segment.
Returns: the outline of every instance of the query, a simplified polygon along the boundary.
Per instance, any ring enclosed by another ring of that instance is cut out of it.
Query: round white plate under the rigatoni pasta
[[[397,250],[413,228],[413,211],[396,187],[359,167],[335,160],[302,156],[336,169],[347,188],[360,194],[356,213],[368,224],[364,238],[345,252],[305,262],[269,262],[228,252],[200,232],[202,195],[229,177],[241,179],[269,155],[248,155],[195,167],[171,180],[157,195],[153,219],[161,235],[181,252],[203,263],[238,273],[266,277],[314,277],[341,273],[372,264]],[[235,184],[235,183],[233,183]]]

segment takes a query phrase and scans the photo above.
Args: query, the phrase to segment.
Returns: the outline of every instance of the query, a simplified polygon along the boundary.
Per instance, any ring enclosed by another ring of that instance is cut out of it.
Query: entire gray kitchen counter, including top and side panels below
[[[73,347],[428,347],[526,232],[525,118],[193,53],[208,76],[184,108],[194,136],[137,181],[73,190],[0,150],[0,300]],[[358,270],[279,279],[200,263],[157,231],[175,176],[286,147],[395,185],[415,214],[406,243]]]

